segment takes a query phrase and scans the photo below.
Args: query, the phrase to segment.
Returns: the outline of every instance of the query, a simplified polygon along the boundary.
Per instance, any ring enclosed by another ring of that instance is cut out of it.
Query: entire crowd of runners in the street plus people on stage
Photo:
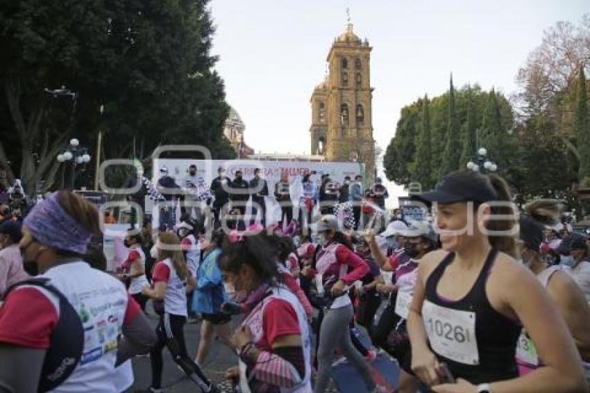
[[[323,180],[333,203],[316,217],[287,209],[287,223],[266,226],[218,201],[223,225],[189,214],[156,235],[131,228],[115,271],[91,242],[102,216],[77,194],[4,220],[0,392],[125,391],[130,360],[146,354],[144,391],[161,392],[165,350],[196,391],[218,392],[203,367],[216,335],[235,353],[226,378],[241,392],[325,392],[340,358],[366,392],[588,390],[589,242],[560,224],[559,203],[519,212],[502,178],[460,171],[413,195],[430,219],[370,220],[362,199],[378,210],[387,190],[360,181],[345,187],[358,202],[351,220]],[[217,183],[212,198],[225,192]],[[384,356],[399,368],[395,386],[376,378]]]

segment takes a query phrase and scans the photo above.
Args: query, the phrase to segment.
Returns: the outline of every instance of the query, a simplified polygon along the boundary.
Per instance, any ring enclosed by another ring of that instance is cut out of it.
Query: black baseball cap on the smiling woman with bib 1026
[[[496,201],[498,195],[489,177],[473,171],[457,171],[441,178],[433,190],[412,194],[412,199],[425,203],[483,203]]]

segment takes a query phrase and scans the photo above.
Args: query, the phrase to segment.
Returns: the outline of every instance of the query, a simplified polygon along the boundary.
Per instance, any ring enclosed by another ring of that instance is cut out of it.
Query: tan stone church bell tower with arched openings
[[[328,74],[314,88],[310,99],[312,125],[311,153],[327,161],[354,161],[365,164],[365,178],[375,178],[371,87],[371,47],[353,31],[346,30],[328,52]]]

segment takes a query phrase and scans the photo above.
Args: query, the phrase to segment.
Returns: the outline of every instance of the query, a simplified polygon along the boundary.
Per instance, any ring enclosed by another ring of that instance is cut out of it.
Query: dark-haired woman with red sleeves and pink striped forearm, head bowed
[[[281,283],[277,254],[276,237],[258,233],[233,237],[219,258],[226,285],[253,303],[233,337],[239,367],[226,372],[244,393],[312,392],[305,310]]]

